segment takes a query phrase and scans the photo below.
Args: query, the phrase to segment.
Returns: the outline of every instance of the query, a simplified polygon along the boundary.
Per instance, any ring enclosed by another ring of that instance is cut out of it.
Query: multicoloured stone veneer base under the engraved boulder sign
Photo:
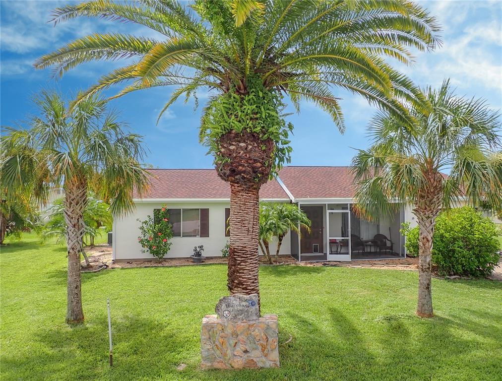
[[[277,315],[249,321],[206,315],[200,334],[201,368],[278,368],[278,329]]]

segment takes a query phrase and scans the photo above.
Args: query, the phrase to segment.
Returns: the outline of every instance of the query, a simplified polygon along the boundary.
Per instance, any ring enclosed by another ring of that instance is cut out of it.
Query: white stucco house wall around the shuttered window
[[[225,208],[230,207],[228,202],[138,202],[136,210],[127,217],[118,218],[113,222],[113,258],[115,260],[152,259],[150,253],[142,253],[138,243],[139,227],[141,221],[148,215],[153,216],[153,210],[166,204],[168,208],[207,208],[209,209],[209,236],[208,237],[173,237],[171,249],[165,258],[186,258],[193,252],[193,247],[204,245],[203,255],[206,257],[220,257],[221,249],[227,239],[225,237]],[[289,233],[283,240],[281,254],[289,255]],[[271,242],[270,249],[275,253],[277,241]]]

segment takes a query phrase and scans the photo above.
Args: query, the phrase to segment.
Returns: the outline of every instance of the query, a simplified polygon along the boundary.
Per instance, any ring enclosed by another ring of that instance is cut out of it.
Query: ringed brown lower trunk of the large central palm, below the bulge
[[[228,290],[230,294],[258,294],[259,188],[230,182],[230,249]]]

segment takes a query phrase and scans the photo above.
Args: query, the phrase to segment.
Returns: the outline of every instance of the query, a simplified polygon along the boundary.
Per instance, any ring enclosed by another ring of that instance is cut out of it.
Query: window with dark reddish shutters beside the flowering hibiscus
[[[157,211],[154,209],[154,219]],[[167,209],[173,237],[208,237],[209,209]]]

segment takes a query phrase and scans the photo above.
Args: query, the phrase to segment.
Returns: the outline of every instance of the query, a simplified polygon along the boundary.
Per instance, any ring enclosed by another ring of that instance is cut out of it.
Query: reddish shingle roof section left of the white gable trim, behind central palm
[[[149,169],[152,179],[150,192],[143,198],[158,199],[230,199],[230,186],[221,180],[214,169]],[[138,198],[135,192],[134,198]],[[265,183],[260,198],[289,199],[276,180]]]

